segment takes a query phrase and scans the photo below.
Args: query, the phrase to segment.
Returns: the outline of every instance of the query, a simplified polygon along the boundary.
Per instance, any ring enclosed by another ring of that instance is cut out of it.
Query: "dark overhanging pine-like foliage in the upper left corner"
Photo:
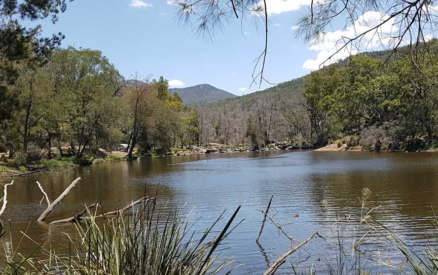
[[[0,1],[0,121],[7,119],[11,114],[8,110],[17,106],[8,86],[19,77],[20,67],[46,63],[64,38],[61,33],[43,38],[41,25],[26,28],[16,18],[34,21],[49,17],[55,23],[65,9],[65,0]]]

